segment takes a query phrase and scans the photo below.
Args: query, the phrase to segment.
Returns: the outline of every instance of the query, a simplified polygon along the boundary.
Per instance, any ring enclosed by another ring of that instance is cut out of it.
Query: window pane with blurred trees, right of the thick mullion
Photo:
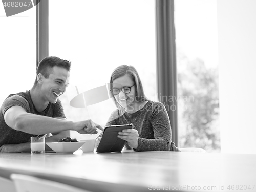
[[[216,0],[176,0],[179,147],[220,151]]]

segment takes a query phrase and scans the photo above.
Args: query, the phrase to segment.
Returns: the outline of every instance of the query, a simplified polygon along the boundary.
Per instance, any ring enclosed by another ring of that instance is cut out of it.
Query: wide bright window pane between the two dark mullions
[[[71,86],[60,97],[68,119],[105,125],[115,109],[111,99],[87,109],[69,102],[77,95],[75,86],[78,93],[103,86],[119,65],[133,65],[146,96],[157,100],[155,55],[154,1],[49,1],[49,56],[70,60],[72,66]]]

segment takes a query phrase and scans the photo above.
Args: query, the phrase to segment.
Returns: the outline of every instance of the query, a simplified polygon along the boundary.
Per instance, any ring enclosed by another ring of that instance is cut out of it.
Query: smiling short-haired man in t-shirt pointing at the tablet
[[[31,90],[9,95],[0,108],[0,153],[30,152],[30,137],[51,133],[46,142],[69,136],[69,130],[96,134],[93,121],[67,121],[58,97],[69,84],[71,63],[46,57],[38,65]],[[46,150],[51,150],[46,146]]]

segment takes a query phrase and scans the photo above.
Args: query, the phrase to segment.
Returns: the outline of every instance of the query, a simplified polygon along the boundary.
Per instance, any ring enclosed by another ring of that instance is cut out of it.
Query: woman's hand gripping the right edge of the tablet
[[[129,146],[133,147],[135,150],[138,147],[139,133],[135,129],[124,129],[123,131],[118,132],[117,137],[127,141]]]

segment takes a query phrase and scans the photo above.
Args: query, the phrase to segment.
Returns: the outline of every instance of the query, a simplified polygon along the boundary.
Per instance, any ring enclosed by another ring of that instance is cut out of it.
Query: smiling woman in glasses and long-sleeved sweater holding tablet
[[[118,109],[111,114],[106,126],[134,125],[134,129],[118,133],[119,138],[127,141],[126,150],[179,151],[171,142],[170,121],[164,105],[145,97],[138,72],[133,66],[117,67],[111,75],[110,88]],[[96,146],[100,139],[101,135]]]

